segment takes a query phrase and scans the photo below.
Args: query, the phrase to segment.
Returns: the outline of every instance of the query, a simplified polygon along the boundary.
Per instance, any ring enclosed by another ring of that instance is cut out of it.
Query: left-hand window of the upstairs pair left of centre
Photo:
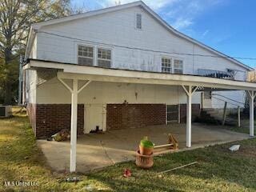
[[[85,66],[94,65],[94,47],[78,46],[78,64]]]

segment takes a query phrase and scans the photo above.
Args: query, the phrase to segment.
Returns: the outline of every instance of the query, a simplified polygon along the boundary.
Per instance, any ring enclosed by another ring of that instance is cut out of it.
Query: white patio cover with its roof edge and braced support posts
[[[250,136],[254,136],[254,97],[256,83],[242,82],[222,78],[209,78],[192,74],[165,74],[160,72],[122,70],[102,68],[98,66],[81,66],[72,63],[52,62],[38,59],[30,59],[23,66],[29,69],[54,69],[58,70],[57,78],[72,95],[71,98],[71,131],[70,131],[70,172],[76,170],[76,144],[77,144],[77,111],[78,94],[92,81],[98,82],[126,82],[153,85],[182,86],[187,95],[186,107],[186,146],[191,146],[191,103],[192,95],[198,88],[214,90],[246,90],[250,96]],[[73,81],[70,87],[63,79]],[[84,81],[83,86],[78,87],[78,81]]]

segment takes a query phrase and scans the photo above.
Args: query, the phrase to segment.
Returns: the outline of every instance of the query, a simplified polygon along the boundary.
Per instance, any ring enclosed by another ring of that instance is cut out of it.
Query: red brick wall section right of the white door
[[[106,130],[166,124],[165,104],[107,104]]]

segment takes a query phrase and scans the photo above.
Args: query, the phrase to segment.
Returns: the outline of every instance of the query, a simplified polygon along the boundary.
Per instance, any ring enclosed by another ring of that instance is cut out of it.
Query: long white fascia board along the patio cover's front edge
[[[130,82],[158,85],[204,86],[226,90],[256,90],[256,83],[208,78],[190,74],[162,74],[134,70],[107,69],[97,66],[78,66],[58,62],[30,60],[30,67],[61,70],[59,78],[71,78],[103,82]]]

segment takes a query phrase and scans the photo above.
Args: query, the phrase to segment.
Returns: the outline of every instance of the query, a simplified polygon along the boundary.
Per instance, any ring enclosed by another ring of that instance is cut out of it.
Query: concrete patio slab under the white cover
[[[102,134],[84,134],[78,137],[77,171],[85,173],[90,170],[134,159],[134,151],[143,136],[148,136],[155,145],[167,143],[171,133],[178,138],[179,150],[186,150],[186,124],[168,126],[148,126],[140,129],[110,130]],[[222,126],[192,125],[192,147],[190,149],[233,142],[249,138],[222,129]],[[68,171],[70,166],[70,142],[48,142],[38,140],[38,146],[45,154],[53,170]]]

